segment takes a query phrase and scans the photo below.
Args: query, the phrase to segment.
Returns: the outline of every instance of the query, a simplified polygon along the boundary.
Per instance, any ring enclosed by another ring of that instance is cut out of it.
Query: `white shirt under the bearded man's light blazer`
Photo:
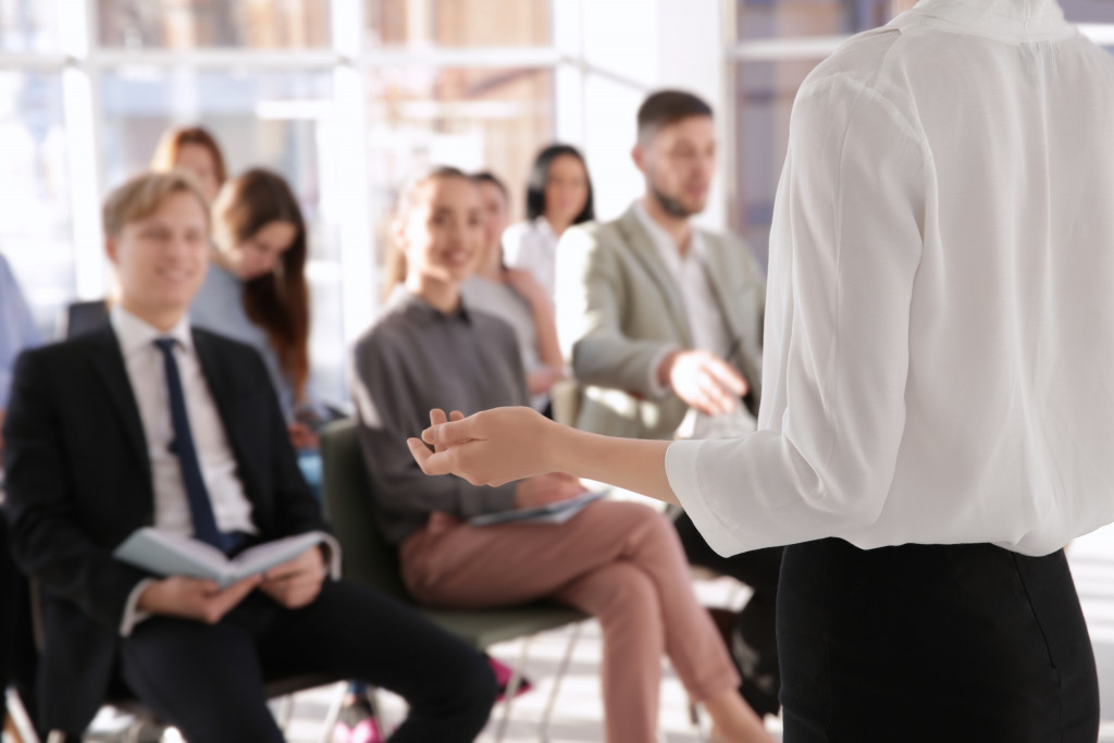
[[[721,359],[726,359],[731,354],[734,343],[732,342],[731,329],[727,327],[727,321],[720,307],[715,287],[707,275],[707,245],[701,238],[700,233],[693,229],[688,250],[682,253],[673,236],[649,216],[642,201],[634,203],[634,213],[649,235],[654,247],[657,248],[657,254],[681,294],[681,304],[685,310],[685,320],[688,323],[693,349],[709,351]],[[656,389],[659,384],[657,368],[662,365],[665,356],[674,350],[666,349],[651,364],[648,371],[653,388]],[[695,408],[690,408],[688,413],[677,428],[676,437],[680,439],[726,439],[753,431],[754,418],[741,400],[737,403],[733,411],[721,416],[705,416]]]

